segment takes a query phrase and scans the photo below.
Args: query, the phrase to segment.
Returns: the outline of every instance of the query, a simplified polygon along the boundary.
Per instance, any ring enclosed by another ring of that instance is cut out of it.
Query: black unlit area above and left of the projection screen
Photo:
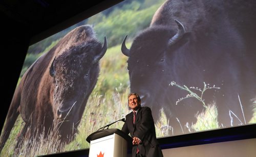
[[[3,0],[1,25],[1,128],[31,42],[44,39],[122,0]],[[31,41],[35,40],[35,41]]]

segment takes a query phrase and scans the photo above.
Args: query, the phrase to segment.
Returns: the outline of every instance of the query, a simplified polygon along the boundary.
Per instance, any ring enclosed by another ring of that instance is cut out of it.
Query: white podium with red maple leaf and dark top
[[[126,157],[127,143],[132,143],[132,138],[117,128],[99,130],[86,140],[90,143],[89,157]]]

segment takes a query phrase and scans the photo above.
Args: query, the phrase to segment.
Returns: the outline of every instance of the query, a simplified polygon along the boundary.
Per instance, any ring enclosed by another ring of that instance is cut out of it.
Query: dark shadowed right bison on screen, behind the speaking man
[[[255,8],[253,0],[169,0],[131,48],[124,38],[131,92],[141,95],[155,120],[163,108],[168,135],[188,133],[187,124],[195,124],[210,104],[216,104],[220,128],[250,121],[256,96]],[[201,100],[188,92],[202,94],[204,86],[209,89]]]

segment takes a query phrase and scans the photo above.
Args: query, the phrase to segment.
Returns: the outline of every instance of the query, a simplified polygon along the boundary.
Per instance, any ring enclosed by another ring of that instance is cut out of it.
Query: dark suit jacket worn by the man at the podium
[[[148,107],[140,107],[133,124],[133,112],[126,115],[122,131],[131,137],[137,137],[142,142],[133,146],[132,156],[136,156],[137,147],[140,154],[146,157],[161,157],[162,151],[156,138],[155,123],[152,117],[151,109]]]

